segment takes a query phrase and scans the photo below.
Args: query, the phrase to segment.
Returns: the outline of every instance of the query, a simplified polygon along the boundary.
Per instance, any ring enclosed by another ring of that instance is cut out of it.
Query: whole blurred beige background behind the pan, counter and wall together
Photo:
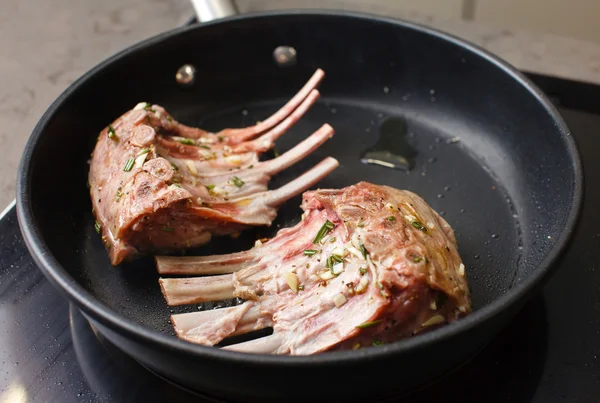
[[[240,12],[365,11],[432,26],[530,72],[600,83],[600,0],[237,0]],[[104,58],[193,15],[188,0],[2,0],[0,210],[38,119]]]

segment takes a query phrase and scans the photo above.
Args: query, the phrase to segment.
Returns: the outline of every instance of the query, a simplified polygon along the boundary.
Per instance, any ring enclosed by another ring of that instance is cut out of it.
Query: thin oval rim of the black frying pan
[[[453,324],[435,329],[431,332],[417,335],[415,337],[399,340],[393,344],[384,345],[376,349],[361,349],[358,351],[336,351],[327,352],[324,354],[309,355],[309,356],[280,356],[266,354],[246,354],[235,351],[227,351],[209,346],[202,346],[190,343],[179,339],[175,336],[160,333],[149,327],[142,326],[140,323],[126,318],[116,311],[109,308],[100,300],[96,299],[83,286],[77,283],[62,267],[62,265],[54,258],[51,250],[43,240],[41,232],[36,228],[36,223],[33,217],[32,203],[30,200],[30,176],[32,170],[31,156],[36,149],[38,140],[45,132],[49,121],[54,116],[55,112],[60,108],[63,102],[78,90],[88,79],[96,76],[105,67],[111,65],[122,57],[144,49],[152,48],[158,43],[165,40],[186,35],[189,31],[203,29],[204,26],[229,24],[236,21],[260,20],[278,17],[336,17],[348,20],[372,21],[377,23],[390,24],[400,26],[413,31],[417,31],[432,37],[436,37],[445,42],[459,46],[462,49],[472,53],[473,55],[485,59],[493,64],[496,68],[503,70],[523,89],[531,93],[536,98],[536,101],[542,106],[550,118],[554,121],[560,139],[566,147],[566,151],[570,156],[573,174],[573,199],[571,210],[565,221],[564,229],[561,235],[556,239],[555,246],[550,250],[548,255],[537,265],[533,272],[523,279],[511,290],[493,300],[489,304],[483,306],[469,316],[462,318]],[[411,353],[417,349],[427,348],[431,344],[447,340],[453,337],[460,336],[461,333],[467,332],[476,328],[483,322],[492,320],[496,315],[508,311],[511,307],[517,306],[519,303],[525,302],[529,296],[542,285],[544,280],[547,280],[551,274],[556,261],[563,255],[568,244],[572,240],[573,233],[577,226],[582,205],[583,205],[583,169],[580,153],[575,142],[575,139],[570,133],[569,128],[564,122],[562,116],[556,107],[550,102],[548,97],[531,82],[523,73],[518,71],[508,62],[493,55],[487,50],[475,45],[469,41],[461,39],[452,34],[448,34],[441,30],[427,27],[419,23],[409,22],[398,18],[382,17],[364,12],[342,11],[342,10],[277,10],[267,12],[248,13],[227,17],[200,25],[183,26],[159,33],[148,39],[137,42],[122,51],[106,58],[101,63],[90,69],[74,83],[72,83],[63,93],[50,105],[46,112],[42,115],[39,122],[36,124],[25,146],[21,162],[18,169],[17,177],[17,217],[19,227],[23,234],[25,244],[29,249],[37,266],[42,270],[46,277],[54,283],[55,286],[66,293],[69,298],[74,301],[80,309],[87,312],[94,320],[113,329],[114,331],[123,332],[127,338],[144,344],[158,344],[168,349],[169,351],[179,354],[188,354],[195,359],[213,359],[230,361],[239,364],[250,364],[260,366],[292,366],[306,367],[314,365],[339,365],[360,363],[363,359],[378,359],[389,358],[390,355],[402,355]]]

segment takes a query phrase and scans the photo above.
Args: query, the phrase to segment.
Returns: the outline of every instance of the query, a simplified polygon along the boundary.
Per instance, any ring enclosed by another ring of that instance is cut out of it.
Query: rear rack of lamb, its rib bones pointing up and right
[[[315,87],[323,77],[317,70],[285,106],[251,127],[211,133],[175,121],[160,105],[140,103],[102,130],[89,184],[96,231],[111,263],[268,226],[281,203],[334,170],[338,162],[325,158],[268,190],[273,175],[333,136],[328,124],[281,156],[259,160],[319,98]]]

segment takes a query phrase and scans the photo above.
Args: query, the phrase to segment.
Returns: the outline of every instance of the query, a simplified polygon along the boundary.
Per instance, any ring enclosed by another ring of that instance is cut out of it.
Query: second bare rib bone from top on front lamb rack
[[[233,298],[231,274],[209,277],[161,278],[158,281],[169,306]]]

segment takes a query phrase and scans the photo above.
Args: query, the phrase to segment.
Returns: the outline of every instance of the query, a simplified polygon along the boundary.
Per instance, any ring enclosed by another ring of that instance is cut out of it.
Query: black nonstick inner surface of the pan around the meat
[[[540,265],[576,208],[579,178],[567,130],[537,94],[477,51],[407,26],[326,15],[256,18],[138,46],[80,80],[42,119],[24,158],[20,203],[39,231],[34,242],[70,281],[117,314],[166,334],[173,334],[171,313],[213,308],[169,308],[150,258],[110,265],[87,188],[96,137],[140,101],[208,130],[249,125],[278,109],[316,68],[326,73],[322,98],[276,148],[291,148],[323,123],[336,134],[270,188],[333,156],[341,165],[321,188],[369,181],[419,194],[456,232],[475,310],[547,270]],[[274,63],[280,45],[296,49],[295,66]],[[188,89],[174,79],[184,63],[197,70]],[[417,152],[407,172],[361,162],[389,119],[406,125],[396,140]],[[297,223],[300,200],[287,202],[270,228],[215,238],[188,254],[249,249],[256,238]]]

